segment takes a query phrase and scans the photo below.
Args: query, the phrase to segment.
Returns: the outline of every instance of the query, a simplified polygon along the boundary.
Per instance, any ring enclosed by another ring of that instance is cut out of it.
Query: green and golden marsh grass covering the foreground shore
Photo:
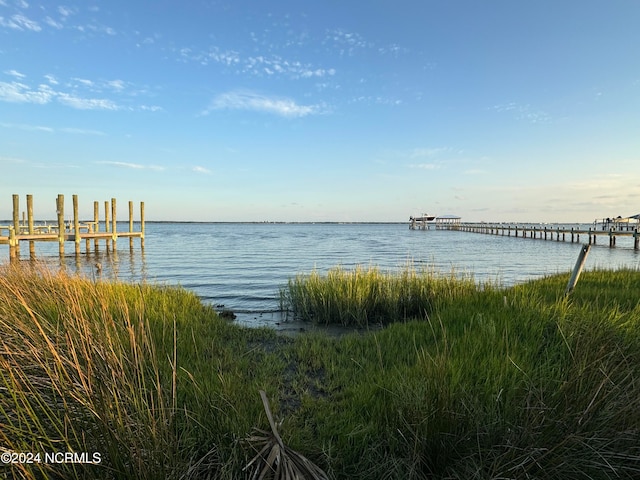
[[[244,440],[269,429],[259,390],[283,441],[330,478],[640,475],[639,272],[585,272],[570,298],[568,274],[500,288],[334,273],[304,311],[384,329],[283,337],[180,288],[4,267],[0,451],[101,462],[0,476],[249,478]]]

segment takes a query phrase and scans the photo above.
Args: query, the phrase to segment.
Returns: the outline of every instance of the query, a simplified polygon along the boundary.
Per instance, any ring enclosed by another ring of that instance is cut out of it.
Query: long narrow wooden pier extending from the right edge
[[[583,242],[588,240],[589,245],[596,245],[598,237],[604,237],[605,242],[609,243],[609,247],[616,246],[617,237],[633,237],[634,250],[640,249],[640,233],[637,224],[635,225],[617,225],[615,227],[597,226],[585,228],[577,227],[549,227],[535,225],[516,225],[501,223],[459,223],[451,225],[440,225],[438,228],[446,230],[460,230],[463,232],[483,233],[486,235],[513,236],[520,238],[531,238],[540,240],[555,240],[557,242],[580,242],[580,236]],[[585,242],[586,243],[586,242]]]

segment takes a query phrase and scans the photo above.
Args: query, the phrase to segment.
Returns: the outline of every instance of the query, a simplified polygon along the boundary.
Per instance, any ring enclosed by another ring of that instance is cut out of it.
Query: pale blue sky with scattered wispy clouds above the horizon
[[[635,0],[0,0],[11,194],[151,220],[640,213]],[[70,206],[68,207],[68,211]]]

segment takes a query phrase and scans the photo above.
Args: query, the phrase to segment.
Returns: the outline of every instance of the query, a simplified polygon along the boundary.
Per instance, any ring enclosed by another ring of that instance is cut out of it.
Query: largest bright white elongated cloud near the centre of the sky
[[[232,91],[218,95],[203,114],[213,110],[248,110],[282,117],[306,117],[323,113],[319,105],[300,105],[290,98],[260,95],[249,91]]]

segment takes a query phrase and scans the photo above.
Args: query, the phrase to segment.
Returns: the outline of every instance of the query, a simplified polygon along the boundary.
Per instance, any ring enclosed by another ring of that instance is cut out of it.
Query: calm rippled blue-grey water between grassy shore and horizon
[[[620,237],[617,245],[593,247],[587,268],[640,268],[632,240]],[[66,248],[73,251],[71,244]],[[376,265],[395,270],[412,262],[512,285],[571,270],[579,249],[565,242],[409,230],[407,224],[148,223],[144,254],[139,241],[131,253],[128,240],[120,239],[115,255],[106,255],[102,243],[98,254],[67,255],[64,263],[91,277],[178,284],[207,303],[232,309],[241,323],[275,325],[281,320],[275,312],[279,289],[313,269]],[[36,253],[53,264],[59,261],[56,243],[37,244]],[[0,246],[0,255],[8,258],[8,247]],[[27,257],[24,244],[22,259]],[[103,266],[99,274],[96,262]]]

